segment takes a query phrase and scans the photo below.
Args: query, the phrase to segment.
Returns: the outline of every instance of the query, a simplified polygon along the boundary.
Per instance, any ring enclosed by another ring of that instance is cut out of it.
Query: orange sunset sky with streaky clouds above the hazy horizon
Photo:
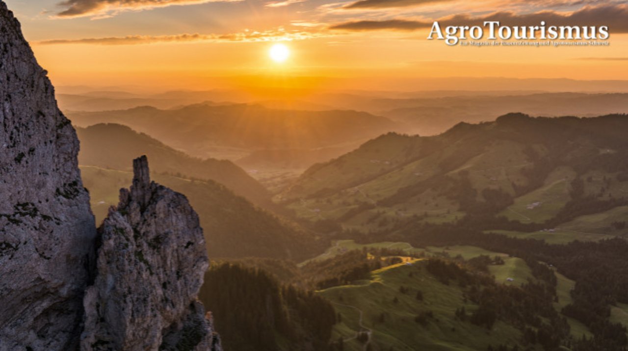
[[[368,87],[425,77],[628,79],[627,1],[5,0],[58,85],[202,89],[293,81]],[[610,46],[464,47],[431,23],[608,25]],[[268,51],[290,48],[284,63]],[[254,78],[257,77],[257,78]],[[303,78],[309,77],[309,78]],[[380,84],[380,83],[377,83]]]

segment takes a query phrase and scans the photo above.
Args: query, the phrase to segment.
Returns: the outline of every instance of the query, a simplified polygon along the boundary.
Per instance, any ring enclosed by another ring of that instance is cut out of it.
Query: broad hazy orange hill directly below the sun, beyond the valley
[[[217,148],[311,149],[364,141],[396,124],[356,111],[288,111],[261,105],[188,105],[160,110],[136,107],[122,111],[69,114],[80,127],[103,122],[130,126],[164,143],[203,158]]]

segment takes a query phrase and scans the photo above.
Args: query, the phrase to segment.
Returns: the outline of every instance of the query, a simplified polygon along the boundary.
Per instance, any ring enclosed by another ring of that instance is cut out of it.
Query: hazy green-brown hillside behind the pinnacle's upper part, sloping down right
[[[133,174],[94,166],[82,166],[81,173],[99,224],[108,208],[117,204],[119,189],[129,184]],[[154,168],[151,168],[151,177],[190,200],[205,232],[208,252],[214,258],[273,257],[299,261],[326,244],[298,225],[255,207],[214,181],[163,175]]]

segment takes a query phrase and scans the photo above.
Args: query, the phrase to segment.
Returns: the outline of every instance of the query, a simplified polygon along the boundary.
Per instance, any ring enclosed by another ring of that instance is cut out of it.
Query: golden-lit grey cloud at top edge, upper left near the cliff
[[[215,1],[239,0],[65,0],[57,4],[63,11],[57,18],[92,17],[107,18],[123,11],[141,11],[144,9],[165,8],[173,5],[194,5]]]

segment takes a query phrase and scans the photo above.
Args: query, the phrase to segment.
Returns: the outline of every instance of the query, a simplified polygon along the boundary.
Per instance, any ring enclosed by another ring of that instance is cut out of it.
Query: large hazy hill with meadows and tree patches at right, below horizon
[[[509,114],[439,136],[386,134],[312,166],[278,200],[301,217],[360,230],[413,218],[454,222],[469,213],[553,227],[555,217],[569,217],[568,205],[588,214],[595,210],[582,208],[602,212],[624,202],[626,130],[625,115]]]

